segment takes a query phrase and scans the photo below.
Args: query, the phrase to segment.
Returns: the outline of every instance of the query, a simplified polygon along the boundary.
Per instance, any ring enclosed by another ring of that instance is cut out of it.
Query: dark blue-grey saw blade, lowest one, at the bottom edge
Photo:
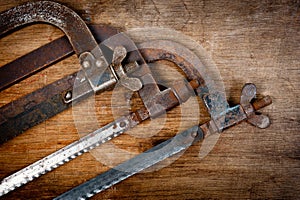
[[[106,171],[103,174],[73,188],[58,196],[59,199],[87,199],[93,195],[133,176],[191,146],[194,142],[203,139],[204,134],[199,126],[194,126],[177,134],[175,137],[129,159],[128,161]]]

